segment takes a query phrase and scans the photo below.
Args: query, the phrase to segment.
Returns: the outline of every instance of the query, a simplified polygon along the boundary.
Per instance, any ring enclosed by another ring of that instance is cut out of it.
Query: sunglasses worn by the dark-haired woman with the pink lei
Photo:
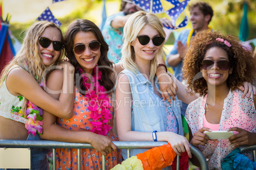
[[[79,43],[76,44],[73,51],[75,51],[76,55],[81,55],[85,51],[86,46],[92,51],[98,51],[101,48],[101,43],[99,41],[92,41],[89,44]]]

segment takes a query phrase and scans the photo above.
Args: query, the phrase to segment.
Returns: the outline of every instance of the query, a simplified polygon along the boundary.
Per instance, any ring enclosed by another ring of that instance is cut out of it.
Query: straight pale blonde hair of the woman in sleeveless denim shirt
[[[134,74],[136,73],[136,70],[138,70],[138,67],[135,63],[135,52],[134,48],[131,46],[131,43],[136,40],[139,31],[143,29],[145,25],[149,25],[153,29],[157,30],[161,37],[166,37],[166,33],[162,28],[162,23],[156,15],[146,13],[145,11],[138,11],[131,15],[124,26],[124,44],[120,62],[125,69],[131,70],[134,72]],[[157,70],[157,57],[162,57],[163,55],[163,45],[164,43],[161,44],[157,55],[153,58],[153,60],[150,61],[150,81],[152,81],[153,77],[155,77],[155,72]]]

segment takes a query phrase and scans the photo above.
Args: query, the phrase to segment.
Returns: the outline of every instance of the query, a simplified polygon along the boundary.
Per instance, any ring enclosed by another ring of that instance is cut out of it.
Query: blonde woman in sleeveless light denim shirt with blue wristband
[[[155,76],[165,37],[159,18],[144,11],[134,13],[124,27],[121,63],[125,69],[118,75],[116,91],[118,138],[121,141],[168,141],[176,154],[187,152],[191,157],[190,145],[182,136],[180,113],[162,100]],[[182,98],[185,87],[176,82],[177,95]],[[189,102],[195,98],[188,96],[182,100]],[[145,150],[131,150],[131,155],[141,152]],[[122,153],[124,158],[125,154]]]

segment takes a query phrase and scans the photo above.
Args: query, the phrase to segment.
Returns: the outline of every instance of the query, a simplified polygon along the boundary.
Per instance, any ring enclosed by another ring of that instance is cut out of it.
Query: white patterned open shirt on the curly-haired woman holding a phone
[[[243,92],[236,89],[232,92],[229,91],[229,94],[224,99],[220,118],[220,131],[238,127],[251,133],[256,133],[256,111],[253,96],[242,98],[242,95]],[[204,98],[206,97],[204,96]],[[192,101],[187,108],[185,118],[193,135],[203,128],[204,98],[201,97]],[[199,145],[199,149],[208,160],[209,169],[221,169],[222,160],[234,150],[227,140],[208,140],[207,146]],[[245,155],[252,160],[252,152],[246,152]]]

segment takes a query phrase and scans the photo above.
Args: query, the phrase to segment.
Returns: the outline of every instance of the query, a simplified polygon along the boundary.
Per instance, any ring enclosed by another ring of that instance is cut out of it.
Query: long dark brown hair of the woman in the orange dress
[[[111,81],[110,77],[113,74],[113,62],[108,60],[108,44],[104,41],[101,30],[97,25],[90,20],[75,20],[72,22],[68,30],[66,31],[64,43],[65,43],[65,54],[69,58],[70,63],[75,67],[75,75],[80,75],[79,73],[79,63],[76,60],[75,54],[73,53],[74,39],[78,32],[92,32],[99,43],[101,43],[101,56],[99,57],[98,66],[99,70],[102,72],[102,77],[104,81],[100,81],[99,84],[106,88],[107,91],[111,91],[114,88],[114,82]],[[100,67],[102,66],[102,67]],[[111,68],[111,69],[110,69]],[[78,88],[78,86],[76,86]],[[78,89],[82,95],[85,95],[85,87],[83,86],[82,79],[80,79],[80,88]]]

